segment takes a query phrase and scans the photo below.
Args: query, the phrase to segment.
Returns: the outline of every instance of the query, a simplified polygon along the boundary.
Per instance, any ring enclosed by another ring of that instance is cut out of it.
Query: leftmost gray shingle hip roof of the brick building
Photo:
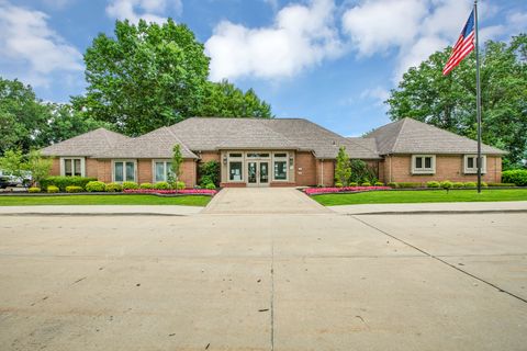
[[[91,131],[61,143],[43,148],[43,156],[92,156],[104,152],[117,143],[130,139],[127,136],[104,128]]]

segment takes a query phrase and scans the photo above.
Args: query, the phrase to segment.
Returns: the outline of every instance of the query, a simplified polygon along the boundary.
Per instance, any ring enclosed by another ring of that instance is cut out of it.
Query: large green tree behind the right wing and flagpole
[[[475,56],[444,77],[450,52],[437,52],[405,72],[386,100],[388,113],[393,121],[413,117],[475,138]],[[480,58],[483,143],[509,152],[505,168],[519,167],[527,159],[527,35],[489,41]]]

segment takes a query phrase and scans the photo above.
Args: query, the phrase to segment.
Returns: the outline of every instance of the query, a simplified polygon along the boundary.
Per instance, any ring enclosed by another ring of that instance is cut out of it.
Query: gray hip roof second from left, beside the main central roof
[[[183,158],[198,158],[168,127],[160,127],[136,138],[128,138],[97,152],[94,158],[171,158],[173,146],[181,146]]]

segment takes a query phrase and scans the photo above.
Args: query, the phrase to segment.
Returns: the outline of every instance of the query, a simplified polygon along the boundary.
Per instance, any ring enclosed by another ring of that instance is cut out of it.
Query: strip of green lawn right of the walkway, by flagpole
[[[314,195],[313,200],[324,206],[358,204],[401,204],[423,202],[481,202],[527,201],[527,189],[483,190],[423,190],[423,191],[371,191],[355,194]]]

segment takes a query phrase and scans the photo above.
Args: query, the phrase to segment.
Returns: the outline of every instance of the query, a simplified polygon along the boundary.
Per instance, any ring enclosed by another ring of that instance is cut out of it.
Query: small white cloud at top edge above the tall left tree
[[[128,20],[132,23],[146,22],[162,23],[167,19],[167,11],[175,11],[180,15],[183,10],[181,0],[111,0],[106,7],[106,14],[117,20]]]

